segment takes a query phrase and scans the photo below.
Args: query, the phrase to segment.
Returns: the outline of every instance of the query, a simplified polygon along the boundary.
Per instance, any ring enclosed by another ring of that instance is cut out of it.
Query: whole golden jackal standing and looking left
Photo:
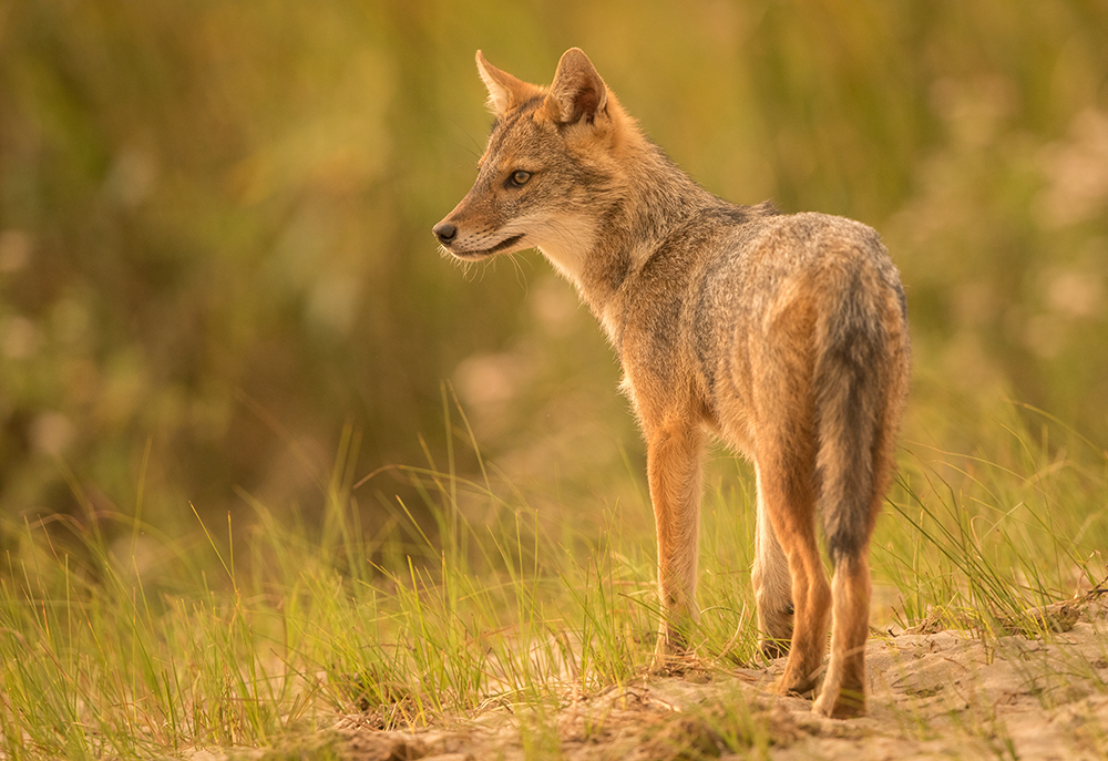
[[[814,689],[833,620],[812,708],[864,712],[869,542],[910,371],[904,291],[878,234],[708,193],[646,138],[576,48],[550,88],[480,51],[476,60],[496,121],[473,188],[434,235],[465,261],[537,247],[619,354],[657,523],[655,666],[687,649],[697,619],[711,432],[755,463],[761,644],[789,652],[776,689]]]

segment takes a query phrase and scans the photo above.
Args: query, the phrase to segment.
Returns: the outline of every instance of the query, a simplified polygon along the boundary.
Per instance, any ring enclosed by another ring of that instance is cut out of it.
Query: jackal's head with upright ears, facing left
[[[434,236],[466,261],[537,247],[576,279],[616,203],[613,181],[630,120],[576,48],[562,56],[550,88],[496,69],[481,51],[476,60],[496,122],[476,182]]]

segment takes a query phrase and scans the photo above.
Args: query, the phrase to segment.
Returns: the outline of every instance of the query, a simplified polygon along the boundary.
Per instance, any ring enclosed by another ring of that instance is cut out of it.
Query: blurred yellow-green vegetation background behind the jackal
[[[960,404],[1012,395],[1105,442],[1106,34],[1099,0],[0,0],[0,511],[310,525],[343,426],[357,476],[445,456],[443,381],[551,503],[640,480],[572,289],[437,253],[491,121],[478,48],[546,83],[579,45],[712,192],[876,227],[910,435],[972,449]],[[356,492],[368,531],[406,489]]]

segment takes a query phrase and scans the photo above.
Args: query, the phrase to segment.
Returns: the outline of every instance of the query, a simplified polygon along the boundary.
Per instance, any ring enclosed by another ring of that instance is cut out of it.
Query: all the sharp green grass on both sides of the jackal
[[[1015,410],[983,417],[988,443],[968,454],[906,438],[874,537],[890,598],[875,623],[938,616],[988,638],[1104,578],[1105,455],[1038,418],[1032,436]],[[459,441],[475,446],[466,430]],[[370,535],[356,449],[348,434],[318,529],[256,503],[249,525],[197,520],[184,537],[145,525],[141,503],[133,515],[6,523],[0,753],[281,748],[341,712],[409,728],[502,706],[531,717],[524,740],[540,757],[567,696],[642,671],[658,614],[647,504],[598,500],[587,521],[540,514],[488,472],[453,472],[448,452],[445,467],[402,469],[423,504],[390,503],[386,531]],[[730,459],[709,472],[696,644],[727,668],[757,661],[753,493]]]

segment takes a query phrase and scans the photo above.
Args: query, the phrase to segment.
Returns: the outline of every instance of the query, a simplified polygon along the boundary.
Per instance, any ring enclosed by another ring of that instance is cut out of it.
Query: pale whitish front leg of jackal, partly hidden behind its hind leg
[[[792,639],[792,575],[789,558],[773,532],[773,522],[762,501],[761,473],[755,469],[758,483],[758,533],[755,536],[755,566],[750,580],[758,605],[759,647],[768,658],[780,658],[789,651]]]

